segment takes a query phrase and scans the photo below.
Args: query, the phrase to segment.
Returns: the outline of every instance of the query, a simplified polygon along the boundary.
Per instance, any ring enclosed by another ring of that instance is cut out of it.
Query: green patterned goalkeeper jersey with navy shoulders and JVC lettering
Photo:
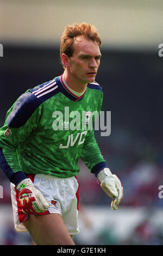
[[[69,178],[79,172],[79,158],[92,173],[105,167],[91,126],[102,101],[98,83],[87,84],[78,97],[62,75],[21,95],[0,130],[0,164],[10,181],[21,179],[16,173]]]

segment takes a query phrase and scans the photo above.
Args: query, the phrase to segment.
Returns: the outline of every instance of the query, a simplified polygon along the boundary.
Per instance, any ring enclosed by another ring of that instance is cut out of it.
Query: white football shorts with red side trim
[[[50,204],[48,210],[40,215],[60,214],[70,235],[78,234],[79,183],[76,176],[65,179],[44,174],[29,174],[27,176],[33,181],[34,186],[41,191]],[[18,192],[12,183],[11,202],[15,230],[19,232],[28,231],[23,222],[27,220],[29,215],[24,214],[21,210]]]

